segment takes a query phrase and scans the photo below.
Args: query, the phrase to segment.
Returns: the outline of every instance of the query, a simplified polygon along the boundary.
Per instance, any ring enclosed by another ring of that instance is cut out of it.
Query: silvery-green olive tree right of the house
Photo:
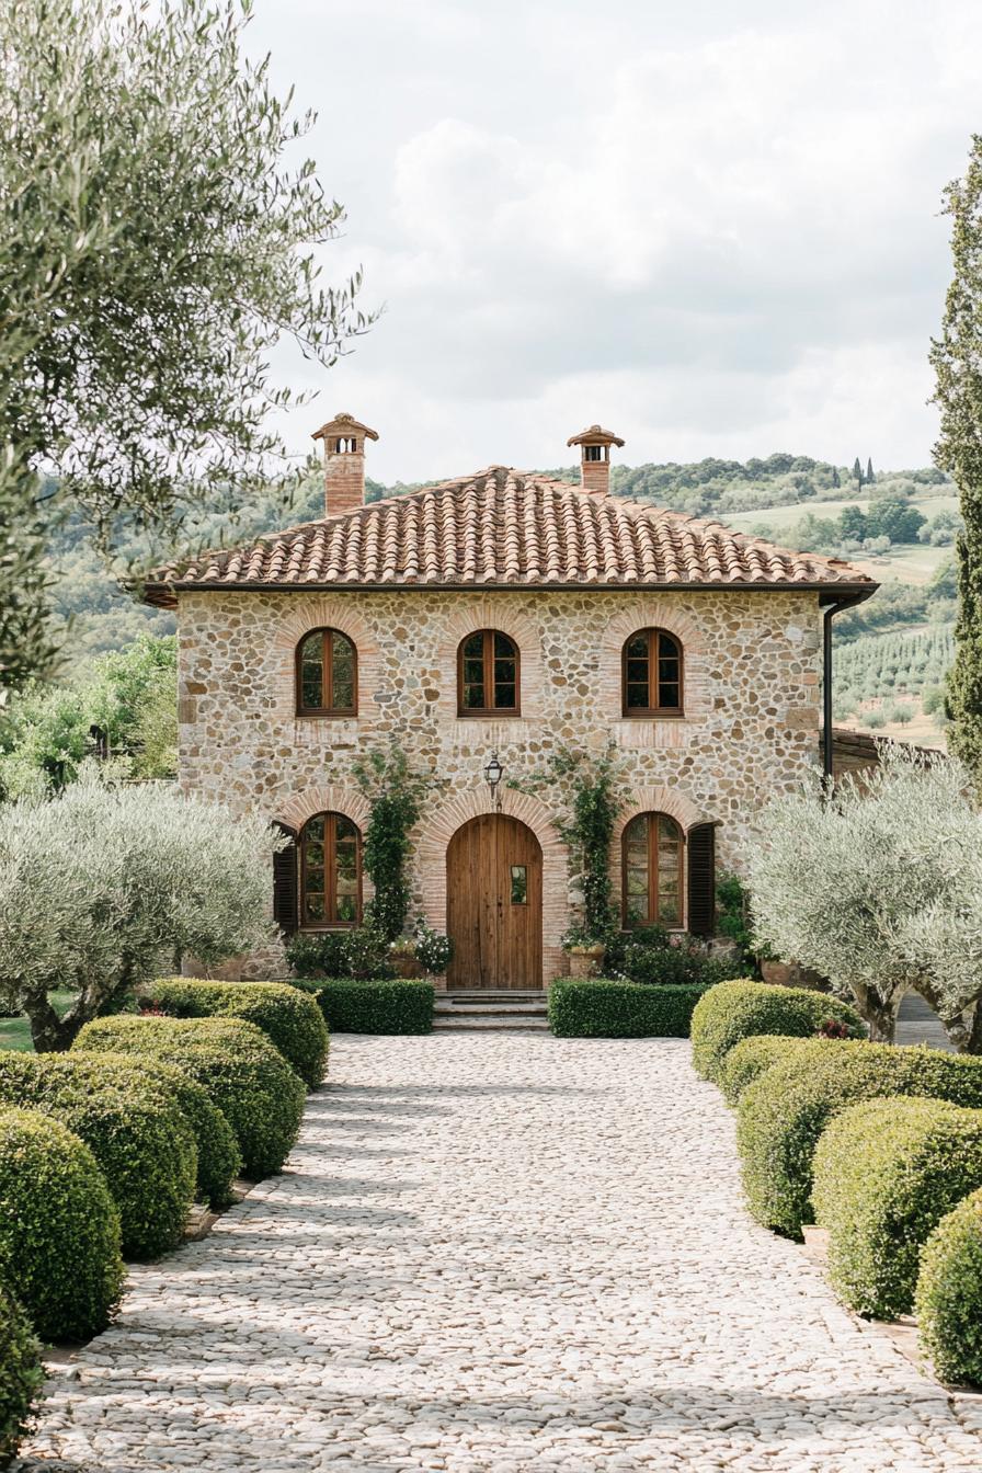
[[[758,941],[852,996],[892,1040],[907,991],[982,1052],[982,815],[955,760],[880,745],[835,791],[773,798],[748,844]]]

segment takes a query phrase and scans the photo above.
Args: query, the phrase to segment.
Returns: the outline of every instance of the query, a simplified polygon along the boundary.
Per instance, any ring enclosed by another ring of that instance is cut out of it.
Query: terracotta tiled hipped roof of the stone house
[[[158,569],[144,597],[172,605],[181,588],[346,585],[876,588],[836,558],[492,465]]]

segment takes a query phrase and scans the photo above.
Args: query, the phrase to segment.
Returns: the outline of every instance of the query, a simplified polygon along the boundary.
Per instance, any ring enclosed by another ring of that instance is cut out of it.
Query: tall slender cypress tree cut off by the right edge
[[[941,337],[930,345],[933,402],[941,407],[935,463],[954,479],[964,521],[955,544],[950,744],[982,791],[982,134],[973,134],[964,178],[948,184],[944,208],[953,219],[953,277]]]

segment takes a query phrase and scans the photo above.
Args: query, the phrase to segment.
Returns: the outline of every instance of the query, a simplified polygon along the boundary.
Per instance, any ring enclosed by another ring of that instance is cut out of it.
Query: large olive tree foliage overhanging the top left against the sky
[[[243,55],[243,0],[0,6],[0,688],[52,655],[59,511],[113,545],[284,468],[269,355],[330,365],[370,318],[319,283],[342,208],[312,115]],[[296,162],[293,162],[296,159]]]

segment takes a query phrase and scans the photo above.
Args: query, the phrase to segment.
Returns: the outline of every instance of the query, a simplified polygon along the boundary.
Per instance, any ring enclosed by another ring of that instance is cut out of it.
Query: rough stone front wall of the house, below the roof
[[[294,653],[330,626],[358,648],[358,714],[299,717]],[[637,629],[676,635],[685,653],[685,716],[621,717],[621,647]],[[499,629],[521,654],[521,716],[456,714],[456,651]],[[502,807],[543,850],[543,980],[562,971],[570,919],[559,795],[508,788],[542,772],[559,747],[620,753],[623,812],[611,853],[620,894],[620,829],[661,810],[683,829],[717,822],[717,863],[739,868],[739,841],[761,804],[816,766],[819,595],[742,592],[424,589],[337,594],[194,591],[180,595],[180,753],[187,792],[259,809],[299,826],[324,809],[359,826],[367,806],[352,764],[396,738],[433,775],[414,834],[414,903],[446,927],[446,846],[490,807],[483,767],[498,750]],[[576,890],[573,890],[576,899]],[[252,972],[281,960],[255,959]]]

